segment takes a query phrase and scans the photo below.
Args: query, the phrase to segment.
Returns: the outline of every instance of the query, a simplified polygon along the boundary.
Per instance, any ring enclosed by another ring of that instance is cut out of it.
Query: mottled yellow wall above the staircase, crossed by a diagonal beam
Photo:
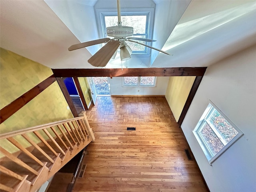
[[[0,57],[1,108],[52,75],[50,68],[2,48]],[[54,82],[0,124],[0,133],[73,118],[67,106],[58,83]]]

